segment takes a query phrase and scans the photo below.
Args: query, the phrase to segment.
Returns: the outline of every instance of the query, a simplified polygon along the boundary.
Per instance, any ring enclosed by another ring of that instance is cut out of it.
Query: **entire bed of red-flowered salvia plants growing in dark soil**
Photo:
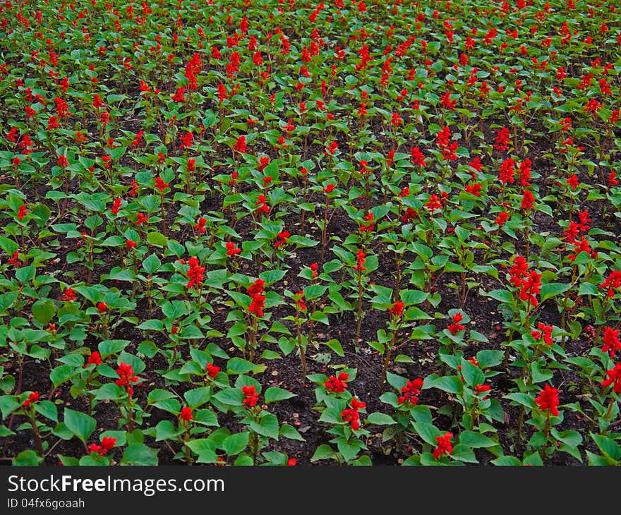
[[[4,2],[4,456],[621,464],[617,4]]]

